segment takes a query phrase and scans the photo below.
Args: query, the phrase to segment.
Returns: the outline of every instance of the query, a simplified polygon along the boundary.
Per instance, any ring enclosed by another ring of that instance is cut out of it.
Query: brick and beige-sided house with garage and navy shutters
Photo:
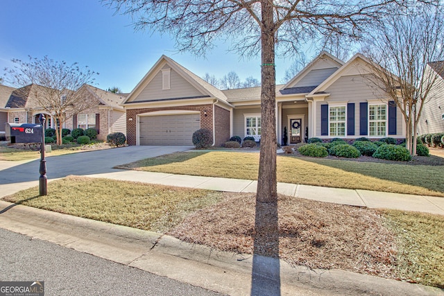
[[[282,143],[318,137],[405,138],[394,102],[366,78],[370,62],[361,54],[347,63],[323,52],[286,85],[276,86],[276,134]],[[162,55],[123,106],[129,145],[191,145],[199,128],[212,130],[214,145],[232,136],[260,140],[260,87],[219,90]]]

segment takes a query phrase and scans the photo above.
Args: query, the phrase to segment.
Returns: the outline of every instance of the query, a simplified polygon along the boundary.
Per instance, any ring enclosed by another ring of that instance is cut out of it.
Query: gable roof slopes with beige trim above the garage
[[[210,85],[210,83],[206,82],[193,72],[189,71],[187,68],[183,67],[182,65],[178,64],[176,61],[172,60],[171,58],[167,57],[166,55],[162,55],[159,60],[154,64],[153,67],[146,73],[144,78],[139,81],[139,83],[136,85],[136,87],[133,89],[132,92],[126,97],[126,99],[122,102],[122,104],[130,103],[133,101],[134,98],[136,98],[143,90],[144,88],[151,82],[151,80],[154,78],[154,76],[161,71],[162,67],[164,67],[165,64],[168,64],[171,69],[176,71],[178,75],[182,76],[187,82],[189,82],[193,87],[198,89],[199,92],[203,94],[203,96],[208,97],[214,97],[218,98],[221,101],[227,102],[227,97],[223,92],[216,87]],[[172,99],[171,99],[172,100]]]

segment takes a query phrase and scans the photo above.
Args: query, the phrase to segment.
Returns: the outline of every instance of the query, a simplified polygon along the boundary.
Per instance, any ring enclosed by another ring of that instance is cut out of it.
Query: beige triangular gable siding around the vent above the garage
[[[170,89],[162,89],[162,71],[159,71],[134,101],[151,101],[161,98],[189,98],[194,96],[203,96],[203,94],[171,69]]]

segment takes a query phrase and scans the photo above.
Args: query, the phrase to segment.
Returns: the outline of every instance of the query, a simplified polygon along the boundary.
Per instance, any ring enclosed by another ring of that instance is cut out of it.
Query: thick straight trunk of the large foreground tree
[[[276,73],[275,73],[275,24],[271,1],[262,0],[262,92],[261,92],[261,147],[259,176],[257,178],[258,202],[278,200],[276,179]]]

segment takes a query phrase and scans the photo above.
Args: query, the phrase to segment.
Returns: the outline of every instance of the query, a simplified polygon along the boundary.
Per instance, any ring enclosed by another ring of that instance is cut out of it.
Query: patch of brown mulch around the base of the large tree
[[[273,215],[262,207],[259,217]],[[393,234],[377,211],[280,195],[278,234],[256,237],[255,195],[225,193],[223,202],[196,211],[169,234],[219,250],[277,256],[309,268],[338,268],[395,278]],[[270,228],[268,228],[270,229]],[[267,246],[279,237],[279,250]]]

